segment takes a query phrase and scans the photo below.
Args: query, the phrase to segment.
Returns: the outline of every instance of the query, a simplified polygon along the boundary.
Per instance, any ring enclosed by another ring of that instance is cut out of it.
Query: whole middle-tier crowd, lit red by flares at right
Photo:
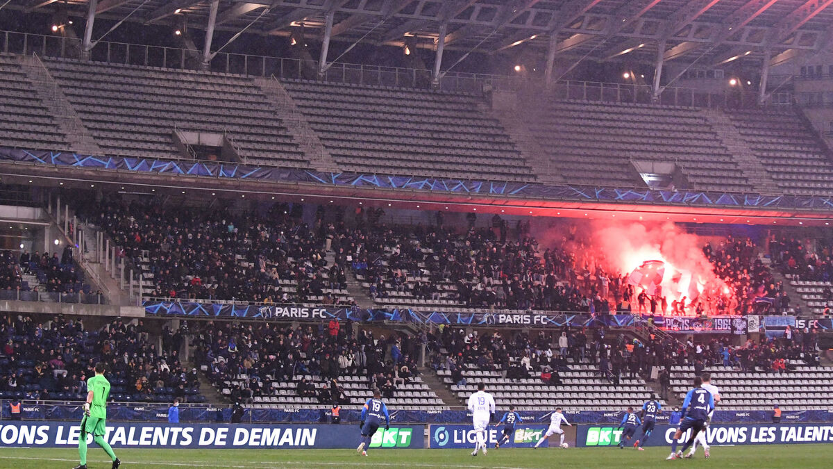
[[[433,224],[394,225],[382,221],[381,209],[357,207],[349,223],[343,208],[335,211],[335,217],[326,217],[319,207],[307,224],[297,204],[246,211],[109,200],[78,209],[82,219],[105,229],[133,264],[141,265],[147,253],[152,297],[352,306],[347,296],[332,294],[347,289],[352,270],[381,304],[404,298],[425,305],[675,315],[790,308],[783,285],[773,280],[749,238],[729,236],[703,248],[731,293],[721,288],[693,300],[666,299],[629,285],[630,272],[603,270],[603,260],[594,259],[599,254],[572,231],[561,242],[540,246],[528,221],[510,230],[498,215],[491,226],[478,226],[470,214],[467,227],[459,229],[446,226],[441,212]],[[797,254],[787,250],[787,255]]]

